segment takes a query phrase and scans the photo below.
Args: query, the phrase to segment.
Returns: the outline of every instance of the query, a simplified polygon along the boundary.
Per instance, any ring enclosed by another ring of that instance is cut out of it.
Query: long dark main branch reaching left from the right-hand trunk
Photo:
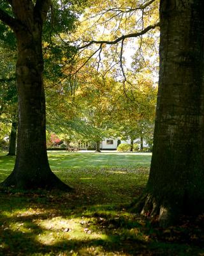
[[[156,27],[159,27],[159,22],[154,24],[154,25],[148,26],[147,28],[143,29],[140,32],[131,33],[131,34],[128,34],[128,35],[122,35],[122,36],[120,36],[119,38],[117,38],[117,39],[115,39],[113,41],[106,41],[106,40],[104,40],[104,41],[103,40],[102,41],[96,41],[96,40],[92,40],[88,44],[85,44],[83,46],[78,47],[78,49],[80,50],[80,49],[87,48],[87,47],[89,47],[92,44],[117,44],[118,42],[120,42],[122,40],[125,40],[126,38],[133,38],[133,37],[142,36],[145,33],[147,33],[148,31],[150,31],[151,29],[154,29]]]

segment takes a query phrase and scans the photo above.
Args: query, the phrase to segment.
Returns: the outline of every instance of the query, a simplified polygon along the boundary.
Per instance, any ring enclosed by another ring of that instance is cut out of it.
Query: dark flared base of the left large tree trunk
[[[15,170],[0,184],[1,188],[15,188],[15,189],[46,189],[52,190],[57,189],[61,191],[73,191],[73,188],[69,187],[67,184],[62,182],[51,170],[46,176],[42,178],[32,177],[27,179],[27,177],[18,177]]]

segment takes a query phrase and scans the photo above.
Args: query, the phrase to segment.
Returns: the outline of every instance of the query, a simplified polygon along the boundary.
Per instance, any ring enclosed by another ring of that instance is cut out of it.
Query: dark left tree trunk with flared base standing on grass
[[[48,164],[41,48],[43,22],[39,14],[42,6],[39,5],[38,10],[34,8],[32,1],[25,3],[13,1],[13,12],[20,20],[15,27],[18,47],[17,157],[13,172],[1,186],[19,189],[69,189],[51,172]],[[40,4],[39,1],[38,3]],[[44,11],[42,8],[41,12]]]

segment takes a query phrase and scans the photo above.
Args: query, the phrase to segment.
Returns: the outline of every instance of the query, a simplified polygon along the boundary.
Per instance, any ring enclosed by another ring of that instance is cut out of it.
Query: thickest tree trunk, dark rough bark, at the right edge
[[[136,207],[160,225],[204,204],[204,1],[161,1],[159,92],[150,177]]]

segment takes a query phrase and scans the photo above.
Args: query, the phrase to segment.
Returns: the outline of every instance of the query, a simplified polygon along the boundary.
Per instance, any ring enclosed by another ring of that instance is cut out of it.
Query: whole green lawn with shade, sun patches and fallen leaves
[[[151,154],[48,157],[55,174],[75,190],[1,189],[0,255],[204,255],[203,216],[161,229],[131,212],[130,203],[145,188]],[[0,154],[0,181],[14,161]]]

